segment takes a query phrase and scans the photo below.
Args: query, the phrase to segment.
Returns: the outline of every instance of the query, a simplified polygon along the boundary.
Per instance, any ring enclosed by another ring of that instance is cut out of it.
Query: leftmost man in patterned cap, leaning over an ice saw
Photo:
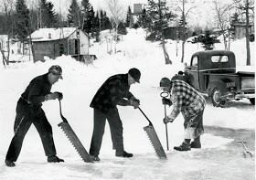
[[[15,166],[20,154],[24,137],[33,123],[40,135],[48,163],[64,162],[56,155],[55,145],[52,138],[52,128],[48,122],[45,112],[41,108],[42,102],[48,100],[62,99],[62,93],[51,93],[51,86],[62,79],[62,69],[56,65],[48,69],[48,73],[32,79],[25,92],[21,94],[16,105],[16,121],[14,125],[14,137],[5,156],[5,164],[9,167]]]

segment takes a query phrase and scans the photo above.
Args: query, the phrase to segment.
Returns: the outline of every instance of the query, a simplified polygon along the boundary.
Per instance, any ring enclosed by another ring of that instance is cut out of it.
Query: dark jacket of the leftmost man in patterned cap
[[[27,89],[21,94],[21,99],[34,107],[42,106],[45,96],[50,93],[51,84],[48,81],[48,73],[32,79]]]

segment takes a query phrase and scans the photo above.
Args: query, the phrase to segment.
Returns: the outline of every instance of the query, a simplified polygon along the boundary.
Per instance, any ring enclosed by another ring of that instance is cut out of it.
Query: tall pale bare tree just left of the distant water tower
[[[114,53],[116,53],[116,43],[117,43],[117,29],[120,22],[123,21],[125,14],[125,10],[123,5],[121,4],[121,0],[107,0],[106,2],[110,16],[112,21],[113,28],[113,37],[114,37]]]

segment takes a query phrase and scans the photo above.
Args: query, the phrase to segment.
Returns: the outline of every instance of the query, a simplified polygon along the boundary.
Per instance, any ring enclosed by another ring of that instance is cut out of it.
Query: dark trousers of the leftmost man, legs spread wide
[[[27,104],[26,101],[20,99],[16,106],[16,122],[14,126],[15,135],[9,146],[5,159],[16,162],[21,151],[24,137],[32,123],[35,125],[37,132],[40,135],[45,154],[47,156],[56,154],[52,138],[52,128],[48,122],[45,112],[40,107],[35,108]]]

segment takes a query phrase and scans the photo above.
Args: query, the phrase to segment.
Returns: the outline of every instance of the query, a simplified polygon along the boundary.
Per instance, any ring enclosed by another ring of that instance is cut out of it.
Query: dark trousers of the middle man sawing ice
[[[123,153],[123,123],[120,120],[117,108],[112,109],[108,113],[102,113],[94,109],[94,125],[90,147],[91,155],[98,156],[100,154],[106,119],[110,125],[112,145],[117,153]]]

